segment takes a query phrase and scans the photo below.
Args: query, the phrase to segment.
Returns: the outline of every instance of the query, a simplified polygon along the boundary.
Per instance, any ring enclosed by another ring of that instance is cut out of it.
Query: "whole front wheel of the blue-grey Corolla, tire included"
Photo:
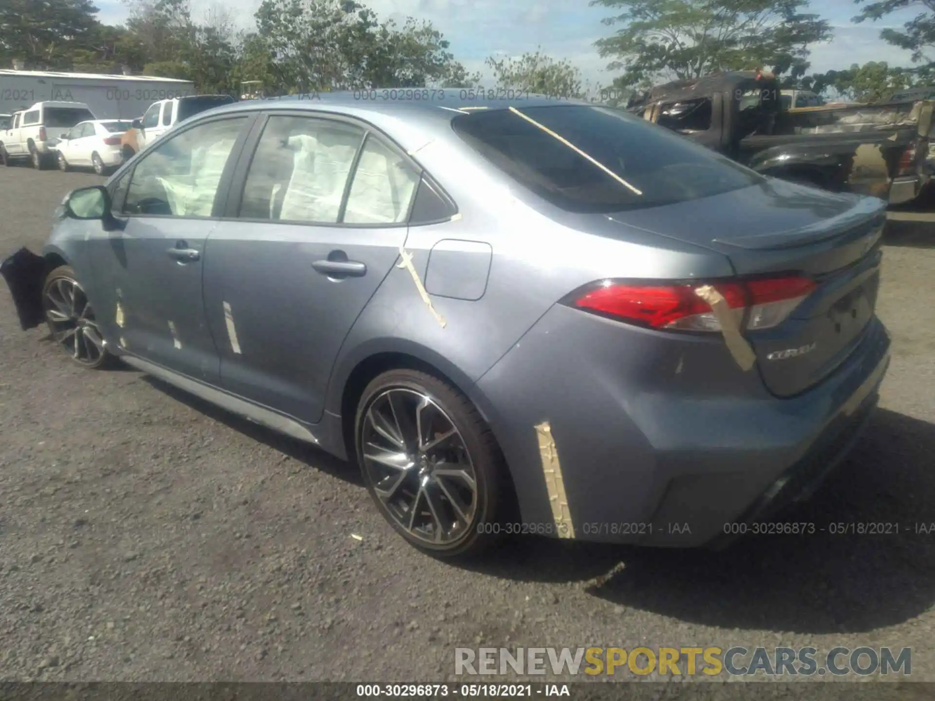
[[[73,291],[71,298],[66,292],[69,286]],[[61,300],[64,307],[53,300]],[[69,302],[74,319],[61,321],[59,318],[68,313]],[[107,350],[107,343],[95,321],[94,309],[70,265],[59,265],[46,276],[42,286],[42,308],[52,339],[69,352],[75,363],[93,370],[114,365],[116,358]],[[94,336],[90,336],[92,332]]]

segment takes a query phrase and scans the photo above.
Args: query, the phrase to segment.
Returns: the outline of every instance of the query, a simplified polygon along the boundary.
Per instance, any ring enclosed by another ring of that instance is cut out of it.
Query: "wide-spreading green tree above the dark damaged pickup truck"
[[[692,79],[720,70],[770,68],[804,75],[808,46],[830,26],[802,10],[809,0],[591,0],[616,12],[603,20],[623,25],[597,40],[601,57],[623,69],[617,87],[662,79]]]

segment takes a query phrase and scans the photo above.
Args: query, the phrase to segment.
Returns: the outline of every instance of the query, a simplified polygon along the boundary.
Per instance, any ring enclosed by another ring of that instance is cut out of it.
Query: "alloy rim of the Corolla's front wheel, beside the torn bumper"
[[[72,279],[56,279],[43,298],[46,319],[55,341],[82,365],[94,365],[104,355],[104,336],[94,321],[94,309],[81,286]]]

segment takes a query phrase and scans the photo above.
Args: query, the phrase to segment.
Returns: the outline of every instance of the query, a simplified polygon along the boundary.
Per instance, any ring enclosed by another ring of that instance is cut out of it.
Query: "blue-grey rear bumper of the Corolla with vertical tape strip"
[[[719,338],[585,317],[554,308],[477,385],[523,522],[554,521],[534,430],[548,421],[585,540],[717,545],[730,524],[806,497],[856,440],[888,366],[874,319],[832,376],[776,399],[756,372],[730,365]]]

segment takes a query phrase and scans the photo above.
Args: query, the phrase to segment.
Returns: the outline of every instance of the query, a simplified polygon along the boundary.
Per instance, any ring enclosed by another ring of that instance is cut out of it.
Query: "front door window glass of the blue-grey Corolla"
[[[160,139],[134,168],[123,213],[211,216],[224,165],[246,121],[206,122]]]

